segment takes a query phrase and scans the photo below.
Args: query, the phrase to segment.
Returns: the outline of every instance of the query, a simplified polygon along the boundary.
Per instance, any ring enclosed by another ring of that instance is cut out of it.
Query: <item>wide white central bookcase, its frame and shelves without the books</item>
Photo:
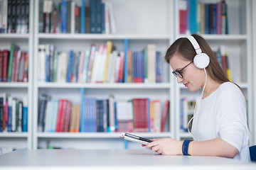
[[[163,56],[167,47],[173,41],[173,8],[172,0],[132,0],[115,1],[107,0],[112,3],[114,16],[116,20],[116,34],[49,34],[38,33],[38,1],[35,4],[35,38],[34,54],[36,56],[38,45],[53,43],[58,51],[68,52],[69,50],[89,49],[92,43],[96,45],[106,43],[111,40],[116,46],[117,51],[124,50],[124,40],[128,40],[129,49],[132,51],[142,51],[149,43],[156,44],[156,50]],[[55,1],[60,2],[60,1]],[[80,1],[75,1],[80,6]],[[143,12],[142,12],[143,10]],[[150,18],[150,19],[149,19]],[[35,57],[34,65],[37,64]],[[70,98],[74,104],[80,104],[80,90],[84,89],[85,97],[95,97],[99,99],[107,98],[110,94],[114,95],[116,101],[124,101],[132,98],[150,98],[161,100],[163,109],[164,101],[167,99],[172,102],[174,98],[171,93],[172,83],[170,81],[170,69],[166,70],[166,81],[155,84],[80,84],[80,83],[52,83],[38,82],[36,69],[34,70],[34,94],[35,101],[41,94],[49,94],[52,98]],[[170,103],[172,105],[172,103]],[[172,110],[170,111],[171,115]],[[37,132],[38,103],[34,103],[33,108],[33,149],[38,147],[46,148],[47,145],[53,145],[64,148],[79,149],[107,149],[110,147],[123,149],[124,145],[128,148],[141,148],[140,145],[125,144],[120,139],[120,132],[94,132],[94,133],[70,133],[70,132]],[[173,123],[169,119],[169,132],[161,133],[139,133],[143,137],[174,137],[172,130]],[[137,133],[138,134],[138,133]]]

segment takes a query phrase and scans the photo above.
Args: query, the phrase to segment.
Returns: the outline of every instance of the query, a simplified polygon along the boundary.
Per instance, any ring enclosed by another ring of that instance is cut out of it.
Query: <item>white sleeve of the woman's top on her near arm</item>
[[[220,138],[240,150],[247,137],[245,97],[235,84],[228,84],[218,100],[217,131]]]

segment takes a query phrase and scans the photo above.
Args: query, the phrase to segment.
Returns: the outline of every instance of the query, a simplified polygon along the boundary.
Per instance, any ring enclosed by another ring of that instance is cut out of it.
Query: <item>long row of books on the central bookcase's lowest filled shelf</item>
[[[82,105],[43,94],[39,99],[38,132],[164,132],[169,101],[83,98]]]

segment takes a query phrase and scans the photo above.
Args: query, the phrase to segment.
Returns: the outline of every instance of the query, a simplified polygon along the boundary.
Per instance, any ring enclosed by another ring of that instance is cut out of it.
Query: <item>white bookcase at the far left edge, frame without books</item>
[[[0,147],[14,149],[32,148],[32,107],[33,107],[33,0],[29,6],[29,33],[0,33],[1,50],[10,50],[15,42],[22,51],[28,52],[28,82],[1,82],[0,94],[12,96],[22,101],[28,96],[28,132],[0,132]]]

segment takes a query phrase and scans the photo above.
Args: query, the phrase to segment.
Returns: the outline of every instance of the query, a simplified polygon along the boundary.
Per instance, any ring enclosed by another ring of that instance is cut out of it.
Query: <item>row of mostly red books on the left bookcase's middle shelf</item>
[[[24,52],[14,42],[10,50],[0,50],[0,81],[28,82],[28,52]]]

